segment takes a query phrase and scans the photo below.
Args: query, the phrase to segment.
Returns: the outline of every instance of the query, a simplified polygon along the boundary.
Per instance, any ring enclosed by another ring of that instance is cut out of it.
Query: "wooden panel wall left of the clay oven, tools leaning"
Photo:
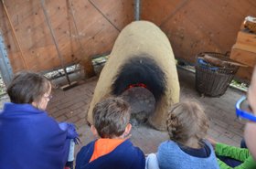
[[[111,51],[123,26],[133,21],[133,0],[70,0],[79,34],[75,31],[68,2],[46,0],[49,20],[65,65],[81,63],[86,74],[91,76],[91,56]],[[60,60],[40,0],[8,0],[5,6],[28,69],[45,71],[59,68]],[[0,31],[14,72],[26,69],[2,4]]]

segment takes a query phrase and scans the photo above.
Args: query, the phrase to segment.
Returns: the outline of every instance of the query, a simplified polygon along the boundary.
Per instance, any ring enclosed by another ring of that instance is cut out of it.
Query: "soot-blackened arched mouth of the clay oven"
[[[112,95],[130,103],[133,125],[147,121],[165,90],[164,71],[145,54],[127,60],[112,83]]]

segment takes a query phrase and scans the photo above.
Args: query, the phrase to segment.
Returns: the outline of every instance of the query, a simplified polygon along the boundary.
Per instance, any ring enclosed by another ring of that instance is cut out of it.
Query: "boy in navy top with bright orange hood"
[[[81,148],[76,169],[144,169],[144,153],[127,139],[130,115],[130,106],[120,98],[97,103],[91,132],[100,138]]]

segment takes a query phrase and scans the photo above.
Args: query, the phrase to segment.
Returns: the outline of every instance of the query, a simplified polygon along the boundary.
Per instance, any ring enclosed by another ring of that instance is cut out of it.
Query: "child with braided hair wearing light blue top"
[[[170,140],[160,144],[156,156],[149,154],[146,168],[219,168],[211,144],[204,140],[208,118],[197,102],[176,103],[168,112],[166,126]]]

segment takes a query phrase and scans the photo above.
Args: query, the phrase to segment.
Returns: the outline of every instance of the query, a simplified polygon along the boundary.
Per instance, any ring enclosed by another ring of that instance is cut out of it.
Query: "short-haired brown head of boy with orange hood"
[[[115,138],[131,130],[130,106],[121,98],[108,98],[92,111],[93,126],[101,138]],[[127,127],[128,126],[128,127]]]

